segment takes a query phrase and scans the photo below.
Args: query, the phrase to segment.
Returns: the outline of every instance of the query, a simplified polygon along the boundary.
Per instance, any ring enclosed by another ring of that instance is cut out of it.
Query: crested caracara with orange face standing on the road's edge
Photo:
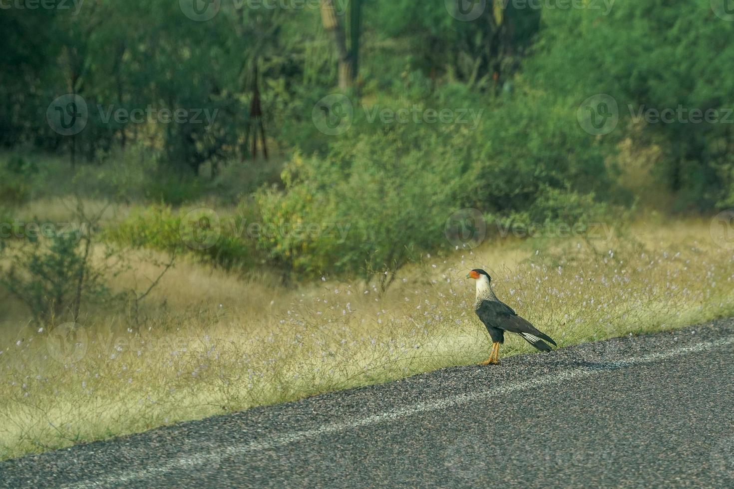
[[[544,339],[556,346],[556,342],[551,337],[538,331],[535,326],[518,316],[510,306],[497,298],[492,290],[492,277],[489,273],[475,268],[469,272],[466,278],[476,280],[474,310],[484,326],[487,326],[487,331],[490,332],[493,343],[490,358],[480,365],[496,365],[499,363],[500,344],[504,342],[505,331],[519,334],[528,343],[541,351],[551,351],[551,347],[543,341]]]

